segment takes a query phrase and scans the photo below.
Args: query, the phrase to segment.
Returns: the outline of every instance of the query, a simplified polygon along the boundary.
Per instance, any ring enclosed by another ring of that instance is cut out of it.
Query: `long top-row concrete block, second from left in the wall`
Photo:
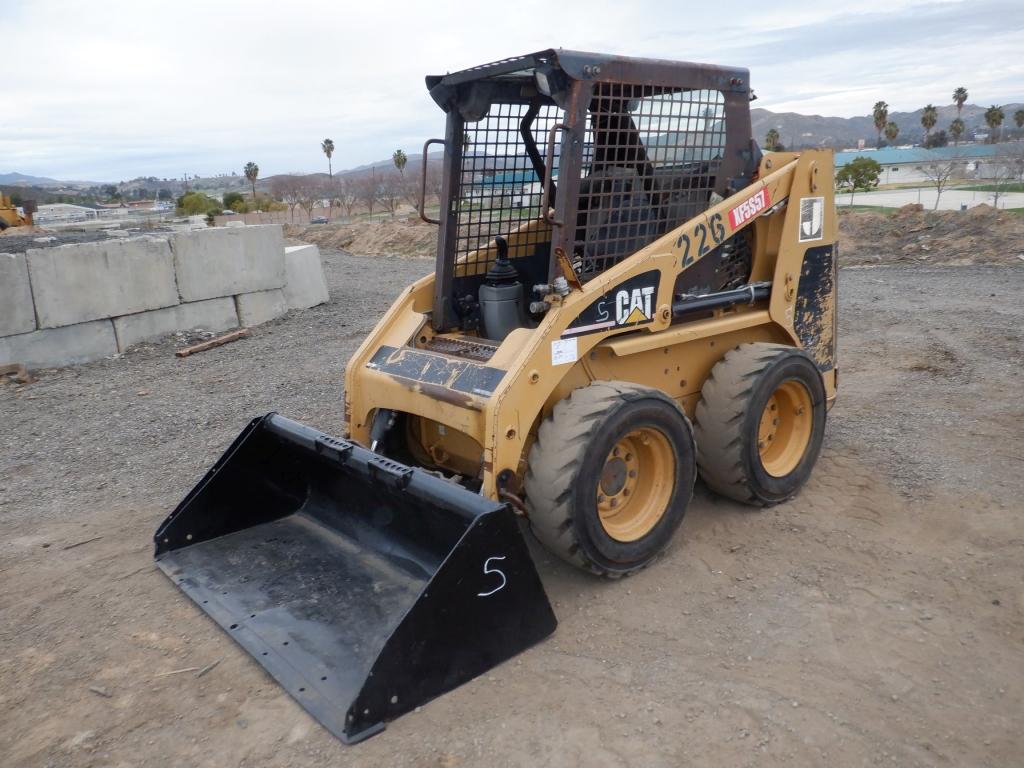
[[[40,328],[178,303],[174,259],[163,238],[30,249],[27,255]]]

